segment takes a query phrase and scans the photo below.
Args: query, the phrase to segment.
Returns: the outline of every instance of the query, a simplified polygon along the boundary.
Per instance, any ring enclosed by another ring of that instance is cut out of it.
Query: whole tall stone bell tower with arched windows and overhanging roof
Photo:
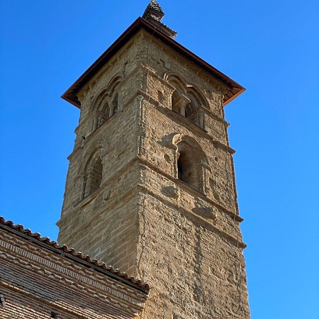
[[[62,98],[81,109],[59,242],[147,281],[140,318],[250,318],[223,107],[245,89],[150,1]]]

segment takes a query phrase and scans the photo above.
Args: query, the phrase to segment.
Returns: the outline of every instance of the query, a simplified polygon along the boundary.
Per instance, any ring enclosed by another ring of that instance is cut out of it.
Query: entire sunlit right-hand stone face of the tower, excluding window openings
[[[140,185],[138,275],[155,289],[141,318],[250,318],[233,151],[221,103],[225,88],[149,35],[142,43],[148,53],[141,157],[149,164]],[[203,92],[202,128],[170,110],[176,85],[162,80],[169,72]],[[199,192],[177,180],[177,142],[184,137],[190,152],[205,155]]]

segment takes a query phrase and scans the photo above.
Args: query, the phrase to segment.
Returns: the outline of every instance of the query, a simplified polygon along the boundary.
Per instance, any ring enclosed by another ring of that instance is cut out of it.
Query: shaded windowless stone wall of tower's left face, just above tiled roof
[[[133,164],[133,163],[132,163]],[[122,271],[135,271],[138,199],[128,180],[140,182],[129,165],[61,220],[59,242]],[[107,212],[107,213],[106,213]]]

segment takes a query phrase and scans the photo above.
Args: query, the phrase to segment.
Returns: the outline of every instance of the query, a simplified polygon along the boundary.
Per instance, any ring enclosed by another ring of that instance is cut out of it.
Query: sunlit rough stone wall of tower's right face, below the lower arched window
[[[141,318],[169,319],[172,313],[174,318],[250,318],[238,223],[196,192],[149,167],[144,172],[136,275],[154,289]],[[173,188],[179,189],[178,198],[170,193]]]

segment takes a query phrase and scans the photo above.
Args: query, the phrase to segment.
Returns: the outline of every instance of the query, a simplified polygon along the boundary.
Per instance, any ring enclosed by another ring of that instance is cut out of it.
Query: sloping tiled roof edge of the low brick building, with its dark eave
[[[35,244],[40,245],[52,252],[57,254],[64,254],[65,257],[73,259],[74,262],[83,264],[86,267],[93,267],[96,271],[106,274],[106,276],[112,277],[122,281],[125,284],[135,287],[145,293],[148,293],[150,286],[145,282],[135,279],[133,276],[128,276],[125,272],[121,272],[119,269],[114,269],[112,266],[107,266],[104,262],[99,262],[96,259],[91,259],[89,255],[84,255],[82,252],[77,252],[73,248],[69,249],[67,245],[60,245],[54,240],[50,240],[49,237],[42,237],[40,233],[32,233],[28,228],[23,228],[23,225],[16,224],[14,225],[11,220],[5,220],[0,216],[0,228],[3,228],[11,233],[14,233],[20,237],[24,237],[27,240],[35,242]]]

